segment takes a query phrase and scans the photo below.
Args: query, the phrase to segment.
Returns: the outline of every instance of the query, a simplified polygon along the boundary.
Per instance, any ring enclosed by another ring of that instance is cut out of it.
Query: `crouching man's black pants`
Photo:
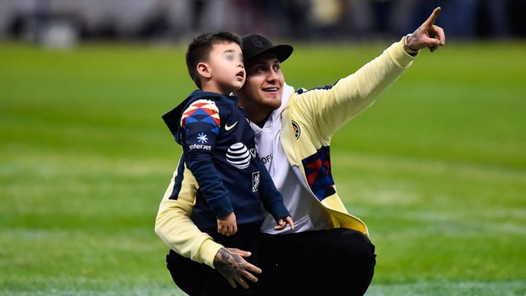
[[[237,235],[237,234],[236,234]],[[172,278],[189,295],[364,295],[373,278],[375,247],[361,232],[345,228],[295,234],[259,234],[262,269],[249,291],[232,289],[206,265],[171,251],[166,256]],[[258,241],[255,237],[246,237]],[[239,245],[236,245],[239,249]],[[253,252],[251,250],[251,252]]]

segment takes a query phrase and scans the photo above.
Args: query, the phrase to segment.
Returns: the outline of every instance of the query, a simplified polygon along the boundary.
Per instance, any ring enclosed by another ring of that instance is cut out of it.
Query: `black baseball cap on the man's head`
[[[264,55],[266,53],[273,53],[277,56],[279,62],[284,62],[290,55],[294,48],[288,44],[274,45],[272,42],[260,34],[248,34],[241,38],[243,47],[243,60],[245,64],[249,63],[255,57]]]

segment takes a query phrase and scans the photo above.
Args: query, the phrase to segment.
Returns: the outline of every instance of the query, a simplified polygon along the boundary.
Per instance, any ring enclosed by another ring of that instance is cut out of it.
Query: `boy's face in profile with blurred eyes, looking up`
[[[208,57],[211,82],[216,92],[229,94],[245,83],[245,68],[241,47],[234,42],[220,42],[212,46]]]

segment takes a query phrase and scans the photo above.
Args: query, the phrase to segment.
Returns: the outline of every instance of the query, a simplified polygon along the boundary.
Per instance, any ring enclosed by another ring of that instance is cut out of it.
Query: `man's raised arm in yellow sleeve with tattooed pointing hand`
[[[301,113],[310,114],[314,130],[324,137],[324,142],[329,142],[334,132],[371,106],[412,64],[420,49],[428,47],[435,51],[445,43],[444,30],[434,25],[439,12],[440,8],[436,8],[416,31],[392,44],[358,71],[340,79],[332,88],[299,96],[297,105]]]

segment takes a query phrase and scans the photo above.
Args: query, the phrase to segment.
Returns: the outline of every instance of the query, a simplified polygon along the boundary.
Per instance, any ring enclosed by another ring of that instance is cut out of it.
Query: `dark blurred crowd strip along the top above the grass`
[[[410,33],[436,7],[448,38],[524,38],[523,0],[2,0],[0,38],[181,40],[203,31],[297,40]],[[61,41],[62,40],[62,41]]]

